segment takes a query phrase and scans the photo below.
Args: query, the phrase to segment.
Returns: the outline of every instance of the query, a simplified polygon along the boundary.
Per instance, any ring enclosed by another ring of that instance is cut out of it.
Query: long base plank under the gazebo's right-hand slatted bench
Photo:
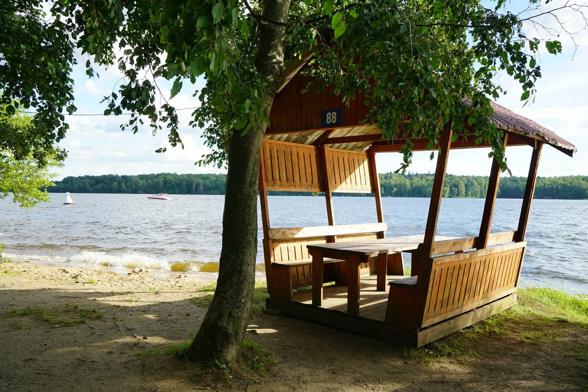
[[[478,309],[460,314],[453,319],[443,321],[442,323],[422,329],[418,333],[417,346],[424,346],[443,336],[452,334],[460,329],[469,327],[478,321],[484,320],[499,311],[508,309],[516,303],[516,294],[509,294],[503,298],[497,299],[492,303],[486,304]]]

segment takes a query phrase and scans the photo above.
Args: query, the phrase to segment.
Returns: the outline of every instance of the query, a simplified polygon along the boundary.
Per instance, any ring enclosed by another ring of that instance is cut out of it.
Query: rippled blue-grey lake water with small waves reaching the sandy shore
[[[65,195],[54,193],[51,203],[31,210],[7,198],[0,200],[0,243],[18,260],[215,277],[223,196],[171,197],[74,193],[75,205],[65,206]],[[376,222],[373,197],[333,200],[336,224]],[[268,202],[272,227],[327,225],[324,197],[269,196]],[[496,201],[493,233],[516,230],[521,203]],[[425,232],[429,199],[385,197],[382,204],[387,237]],[[437,234],[476,236],[483,205],[483,199],[443,199]],[[522,284],[588,293],[587,219],[588,200],[534,200]],[[265,277],[261,231],[258,237],[258,272]]]

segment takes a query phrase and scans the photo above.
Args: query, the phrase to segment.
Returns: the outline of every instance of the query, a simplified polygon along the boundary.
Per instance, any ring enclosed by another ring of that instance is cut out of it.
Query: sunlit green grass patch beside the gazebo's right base
[[[517,304],[473,326],[457,331],[418,349],[407,348],[404,355],[428,363],[436,360],[466,360],[478,355],[476,340],[482,338],[540,344],[565,337],[569,328],[588,328],[588,300],[562,290],[530,287],[519,289]],[[581,360],[588,360],[588,346],[574,349]]]

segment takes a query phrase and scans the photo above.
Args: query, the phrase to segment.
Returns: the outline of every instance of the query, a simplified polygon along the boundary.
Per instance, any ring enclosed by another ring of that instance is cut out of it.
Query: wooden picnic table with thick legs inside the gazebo
[[[425,234],[383,238],[359,242],[335,242],[308,245],[312,254],[312,304],[323,302],[323,257],[345,260],[347,263],[347,313],[359,314],[359,270],[370,256],[377,254],[377,290],[386,291],[387,254],[416,250]],[[452,240],[455,237],[435,236],[435,241]]]

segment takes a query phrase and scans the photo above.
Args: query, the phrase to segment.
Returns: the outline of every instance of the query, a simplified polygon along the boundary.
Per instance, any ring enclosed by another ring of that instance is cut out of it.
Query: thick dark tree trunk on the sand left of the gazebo
[[[263,113],[269,118],[283,71],[285,28],[290,0],[266,0],[260,23],[255,66],[266,77]],[[228,150],[225,210],[219,277],[211,306],[188,354],[192,361],[236,359],[249,321],[257,256],[259,159],[266,123],[256,122],[246,135],[233,130]]]

